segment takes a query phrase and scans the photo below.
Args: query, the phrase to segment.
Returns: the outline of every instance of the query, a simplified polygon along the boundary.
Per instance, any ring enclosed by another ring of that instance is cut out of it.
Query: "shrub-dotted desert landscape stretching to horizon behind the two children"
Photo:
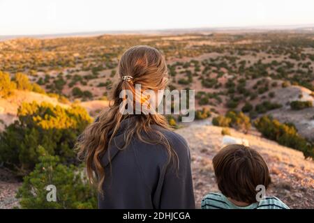
[[[40,164],[45,167],[48,162],[38,158],[43,150],[61,157],[62,168],[72,168],[70,164],[78,168],[70,148],[87,123],[110,105],[112,86],[119,80],[119,56],[133,45],[163,52],[170,90],[195,90],[196,120],[181,123],[180,115],[167,119],[190,146],[197,208],[204,194],[218,190],[211,159],[224,135],[246,139],[262,154],[273,179],[267,195],[279,197],[290,208],[314,208],[311,31],[1,41],[0,208],[29,207],[31,195],[25,190],[40,179],[36,175],[42,174]],[[17,145],[16,139],[22,144]],[[47,146],[51,141],[54,145]],[[80,208],[94,207],[90,194],[82,195],[86,206]]]

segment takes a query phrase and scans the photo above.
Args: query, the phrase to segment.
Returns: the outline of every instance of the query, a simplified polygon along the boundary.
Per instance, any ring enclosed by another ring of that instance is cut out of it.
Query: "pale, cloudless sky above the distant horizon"
[[[0,0],[0,36],[314,24],[314,0]]]

